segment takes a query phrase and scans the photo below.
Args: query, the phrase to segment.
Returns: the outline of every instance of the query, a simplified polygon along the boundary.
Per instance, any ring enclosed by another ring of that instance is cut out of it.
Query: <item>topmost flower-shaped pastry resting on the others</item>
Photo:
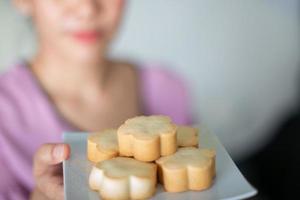
[[[162,115],[128,119],[118,129],[120,155],[154,161],[177,150],[176,125]]]

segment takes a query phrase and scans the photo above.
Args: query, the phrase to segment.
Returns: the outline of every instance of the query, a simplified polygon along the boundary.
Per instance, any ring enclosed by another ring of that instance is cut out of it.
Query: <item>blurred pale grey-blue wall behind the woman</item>
[[[236,159],[260,149],[298,101],[298,0],[130,0],[111,55],[161,62]],[[0,71],[33,54],[28,19],[0,0]]]

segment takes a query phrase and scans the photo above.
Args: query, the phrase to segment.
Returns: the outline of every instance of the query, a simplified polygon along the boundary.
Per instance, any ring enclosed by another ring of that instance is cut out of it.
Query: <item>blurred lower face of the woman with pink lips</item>
[[[124,0],[16,0],[32,17],[41,49],[93,62],[105,53]],[[20,2],[19,2],[20,4]]]

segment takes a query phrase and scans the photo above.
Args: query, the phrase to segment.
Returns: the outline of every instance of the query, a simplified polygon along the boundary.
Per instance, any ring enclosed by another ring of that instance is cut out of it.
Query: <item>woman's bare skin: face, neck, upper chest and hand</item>
[[[97,131],[140,114],[136,70],[106,56],[124,0],[14,3],[31,17],[38,35],[38,51],[28,65],[66,121],[79,130]],[[76,34],[82,32],[97,37],[78,38]],[[31,199],[64,198],[61,163],[69,155],[66,144],[44,144],[37,150]]]

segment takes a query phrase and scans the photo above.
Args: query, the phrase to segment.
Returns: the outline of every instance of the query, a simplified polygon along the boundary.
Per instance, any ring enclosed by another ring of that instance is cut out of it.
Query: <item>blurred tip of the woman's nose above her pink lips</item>
[[[98,0],[81,0],[78,5],[79,16],[83,19],[93,18],[100,10],[98,2]]]

